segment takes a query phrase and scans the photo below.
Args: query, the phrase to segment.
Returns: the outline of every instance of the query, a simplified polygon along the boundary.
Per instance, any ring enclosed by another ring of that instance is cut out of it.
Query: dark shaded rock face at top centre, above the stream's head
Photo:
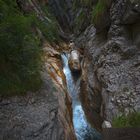
[[[85,3],[85,4],[82,4]],[[49,0],[48,4],[54,16],[59,22],[60,27],[66,33],[80,34],[91,22],[92,6],[97,3],[97,0],[90,2],[81,0]],[[86,19],[86,21],[84,21]]]

